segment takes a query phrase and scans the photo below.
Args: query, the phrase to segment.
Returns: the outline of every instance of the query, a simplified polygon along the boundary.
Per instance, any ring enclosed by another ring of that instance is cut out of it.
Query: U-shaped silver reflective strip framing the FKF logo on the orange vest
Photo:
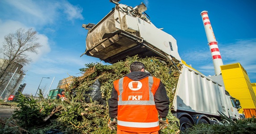
[[[148,89],[149,89],[149,100],[126,100],[126,101],[122,101],[122,92],[123,92],[123,80],[124,78],[119,79],[119,100],[118,100],[118,105],[155,105],[155,100],[154,100],[154,95],[151,92],[151,88],[153,85],[153,77],[152,76],[148,76]]]

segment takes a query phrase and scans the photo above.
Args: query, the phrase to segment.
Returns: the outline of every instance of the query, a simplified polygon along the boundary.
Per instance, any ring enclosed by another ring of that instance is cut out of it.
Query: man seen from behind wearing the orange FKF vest
[[[141,62],[131,63],[130,73],[113,82],[108,126],[117,134],[159,134],[169,124],[164,84],[144,68]]]

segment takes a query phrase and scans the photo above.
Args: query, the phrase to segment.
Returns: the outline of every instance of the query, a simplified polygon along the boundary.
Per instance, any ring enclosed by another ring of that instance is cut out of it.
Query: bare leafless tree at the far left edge
[[[23,66],[29,64],[32,60],[28,56],[28,52],[37,54],[38,48],[42,46],[38,42],[36,31],[33,29],[25,31],[22,28],[17,29],[15,33],[5,35],[2,44],[0,56],[3,60],[0,66],[0,85],[8,81],[6,78],[9,78],[8,75],[16,63]]]

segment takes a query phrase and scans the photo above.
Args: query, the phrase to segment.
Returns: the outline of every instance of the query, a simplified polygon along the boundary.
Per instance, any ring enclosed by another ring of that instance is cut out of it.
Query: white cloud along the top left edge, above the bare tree
[[[83,9],[66,0],[5,0],[12,10],[13,20],[27,25],[47,25],[67,19],[84,19]],[[64,11],[64,14],[62,13]]]

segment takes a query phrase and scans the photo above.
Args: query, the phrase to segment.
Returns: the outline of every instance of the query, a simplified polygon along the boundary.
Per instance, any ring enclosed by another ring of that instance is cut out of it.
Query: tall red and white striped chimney
[[[213,59],[213,63],[214,63],[214,71],[216,75],[220,75],[221,74],[221,70],[220,70],[220,66],[223,65],[221,56],[220,56],[220,52],[218,50],[218,42],[216,41],[216,38],[214,36],[214,32],[213,32],[213,28],[211,26],[209,17],[208,17],[208,12],[207,11],[203,11],[201,12],[201,17],[203,19],[203,23],[205,26],[205,30],[206,30],[206,37],[208,40],[208,45],[210,47],[211,50],[211,54],[212,54],[212,59]]]

